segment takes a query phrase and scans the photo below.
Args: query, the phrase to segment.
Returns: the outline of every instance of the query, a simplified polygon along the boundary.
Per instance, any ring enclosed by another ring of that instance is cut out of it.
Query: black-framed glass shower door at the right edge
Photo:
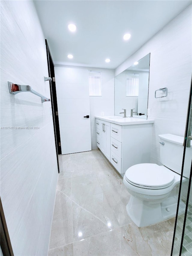
[[[177,207],[175,230],[171,255],[192,255],[192,83],[190,87],[189,105],[184,140],[182,173],[186,166],[190,167],[190,177],[180,183],[179,203]],[[182,178],[181,178],[182,180]]]

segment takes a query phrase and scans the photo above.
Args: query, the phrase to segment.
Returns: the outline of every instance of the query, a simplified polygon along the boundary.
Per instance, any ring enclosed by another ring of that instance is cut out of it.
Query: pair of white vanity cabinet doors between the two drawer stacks
[[[110,161],[111,158],[111,146],[110,146],[110,123],[103,122],[101,124],[101,151]]]

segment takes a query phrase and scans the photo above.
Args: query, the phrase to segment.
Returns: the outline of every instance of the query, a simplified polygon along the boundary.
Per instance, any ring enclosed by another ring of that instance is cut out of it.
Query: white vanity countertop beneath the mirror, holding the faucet
[[[116,125],[137,125],[154,123],[154,119],[143,119],[137,117],[121,117],[121,116],[95,116],[95,118],[107,121]]]

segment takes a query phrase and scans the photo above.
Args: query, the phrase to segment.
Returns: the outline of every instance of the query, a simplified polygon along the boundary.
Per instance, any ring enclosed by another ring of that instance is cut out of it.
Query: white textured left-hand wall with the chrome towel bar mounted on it
[[[47,255],[58,177],[45,39],[32,1],[1,1],[1,200],[14,255]]]

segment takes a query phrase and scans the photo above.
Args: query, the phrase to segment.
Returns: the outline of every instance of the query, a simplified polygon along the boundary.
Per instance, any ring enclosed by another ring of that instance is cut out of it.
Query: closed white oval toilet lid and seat
[[[136,164],[125,172],[125,179],[134,186],[161,189],[174,182],[174,173],[165,166],[157,164]]]

